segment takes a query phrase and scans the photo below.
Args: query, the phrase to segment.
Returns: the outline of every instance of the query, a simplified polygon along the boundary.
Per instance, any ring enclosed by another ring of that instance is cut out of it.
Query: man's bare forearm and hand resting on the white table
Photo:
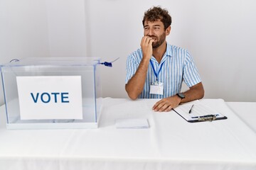
[[[188,101],[194,101],[204,96],[204,89],[202,82],[191,86],[188,91],[183,93],[185,98],[180,98],[178,95],[163,98],[156,102],[153,106],[154,111],[164,112],[171,111],[172,108],[176,108],[180,103],[186,103]]]

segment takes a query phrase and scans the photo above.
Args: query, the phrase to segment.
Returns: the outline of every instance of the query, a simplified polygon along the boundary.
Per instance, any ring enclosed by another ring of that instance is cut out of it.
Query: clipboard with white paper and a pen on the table
[[[200,101],[184,103],[172,110],[189,123],[227,119],[225,115]]]

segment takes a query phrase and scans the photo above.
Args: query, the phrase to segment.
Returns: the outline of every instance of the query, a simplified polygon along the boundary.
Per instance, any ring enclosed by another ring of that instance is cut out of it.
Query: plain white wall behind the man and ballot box
[[[205,98],[256,101],[256,2],[253,0],[0,0],[0,63],[22,57],[102,57],[103,96],[126,98],[126,57],[143,36],[151,6],[173,18],[173,45],[189,50]],[[3,101],[1,94],[0,102]]]

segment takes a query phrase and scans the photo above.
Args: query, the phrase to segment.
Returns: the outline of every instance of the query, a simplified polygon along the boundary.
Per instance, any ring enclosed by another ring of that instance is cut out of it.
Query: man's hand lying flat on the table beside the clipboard
[[[171,111],[172,108],[176,108],[179,103],[181,103],[181,98],[174,95],[168,98],[163,98],[161,101],[156,102],[152,109],[159,112],[168,112]]]

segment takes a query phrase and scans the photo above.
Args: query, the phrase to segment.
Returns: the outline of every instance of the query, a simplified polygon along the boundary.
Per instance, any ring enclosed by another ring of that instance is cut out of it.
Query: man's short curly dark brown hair
[[[142,24],[144,26],[145,21],[154,22],[159,19],[162,23],[164,23],[164,30],[171,26],[171,16],[169,15],[169,12],[160,6],[153,6],[144,13]]]

